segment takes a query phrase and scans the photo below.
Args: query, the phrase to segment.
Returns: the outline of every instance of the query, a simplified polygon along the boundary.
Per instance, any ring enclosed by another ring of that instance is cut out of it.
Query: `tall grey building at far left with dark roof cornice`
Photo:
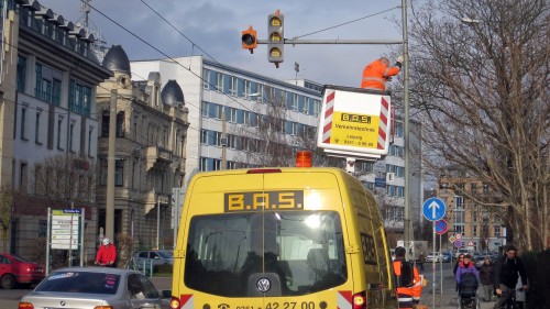
[[[112,73],[85,30],[37,1],[3,3],[0,183],[12,199],[9,250],[42,261],[48,207],[84,208],[82,232],[95,234],[96,86]],[[95,243],[84,251],[92,254]]]

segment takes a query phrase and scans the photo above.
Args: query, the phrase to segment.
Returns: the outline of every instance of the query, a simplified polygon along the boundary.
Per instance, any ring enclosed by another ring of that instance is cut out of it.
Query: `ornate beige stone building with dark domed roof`
[[[184,184],[188,109],[176,80],[148,71],[133,81],[124,49],[112,46],[103,66],[114,76],[98,87],[98,234],[106,225],[111,111],[114,134],[114,235],[129,235],[139,247],[173,246],[170,196]],[[116,91],[114,93],[112,91]],[[116,107],[111,106],[114,100]]]

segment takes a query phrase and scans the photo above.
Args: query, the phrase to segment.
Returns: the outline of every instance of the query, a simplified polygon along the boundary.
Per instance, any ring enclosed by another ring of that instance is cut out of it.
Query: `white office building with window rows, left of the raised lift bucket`
[[[311,148],[320,91],[202,56],[132,62],[134,78],[160,71],[186,91],[186,184],[200,170],[289,165],[289,150]]]

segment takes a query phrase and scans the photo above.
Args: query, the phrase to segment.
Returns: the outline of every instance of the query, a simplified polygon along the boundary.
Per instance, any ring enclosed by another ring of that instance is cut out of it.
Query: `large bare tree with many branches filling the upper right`
[[[488,186],[526,250],[550,238],[550,2],[441,0],[413,4],[411,108],[425,163],[460,166]],[[520,232],[518,232],[520,231]]]

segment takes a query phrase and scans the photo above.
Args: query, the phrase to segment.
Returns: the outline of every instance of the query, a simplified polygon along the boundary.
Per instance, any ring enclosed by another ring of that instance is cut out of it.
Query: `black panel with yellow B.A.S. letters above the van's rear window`
[[[261,210],[301,210],[304,191],[229,192],[223,196],[226,212]]]

